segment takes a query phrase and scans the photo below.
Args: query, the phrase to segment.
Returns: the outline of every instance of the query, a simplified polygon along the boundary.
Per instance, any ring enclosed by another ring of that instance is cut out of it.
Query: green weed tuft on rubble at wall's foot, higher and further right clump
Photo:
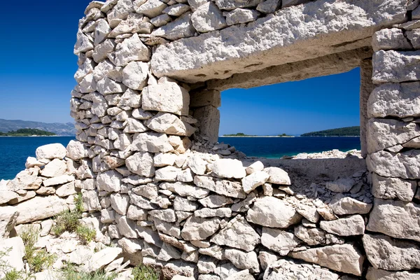
[[[55,216],[55,225],[52,227],[51,232],[53,235],[62,235],[63,232],[76,232],[82,244],[87,244],[94,239],[96,231],[80,224],[80,218],[83,213],[83,199],[82,194],[74,198],[76,207],[69,211],[65,210]]]

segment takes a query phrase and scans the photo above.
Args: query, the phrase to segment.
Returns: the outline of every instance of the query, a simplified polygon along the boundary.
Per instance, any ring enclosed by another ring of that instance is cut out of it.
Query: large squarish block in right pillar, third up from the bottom
[[[375,198],[366,230],[420,241],[420,205]]]

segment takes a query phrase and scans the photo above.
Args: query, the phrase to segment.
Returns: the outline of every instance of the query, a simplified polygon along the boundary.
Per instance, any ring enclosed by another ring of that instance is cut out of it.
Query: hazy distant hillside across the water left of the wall
[[[22,128],[45,130],[59,136],[76,135],[76,128],[73,123],[39,123],[27,120],[3,120],[0,119],[0,132],[10,132]]]

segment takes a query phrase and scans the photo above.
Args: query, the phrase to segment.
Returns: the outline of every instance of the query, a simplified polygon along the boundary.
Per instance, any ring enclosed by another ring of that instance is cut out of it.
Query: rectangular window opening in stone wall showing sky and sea
[[[225,90],[221,93],[218,141],[260,158],[298,154],[307,158],[302,153],[334,149],[360,151],[359,92],[359,68],[307,80]],[[324,130],[332,131],[320,132]],[[346,156],[337,151],[328,154],[330,158]]]

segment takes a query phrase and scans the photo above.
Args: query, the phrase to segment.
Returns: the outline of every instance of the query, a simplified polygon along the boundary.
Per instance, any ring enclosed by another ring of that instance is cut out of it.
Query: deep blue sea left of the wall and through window
[[[13,179],[25,169],[27,157],[35,156],[39,146],[61,143],[64,146],[75,137],[0,137],[0,180]],[[360,149],[358,137],[220,137],[219,142],[235,146],[248,156],[281,158],[283,155],[317,153],[338,149]]]

